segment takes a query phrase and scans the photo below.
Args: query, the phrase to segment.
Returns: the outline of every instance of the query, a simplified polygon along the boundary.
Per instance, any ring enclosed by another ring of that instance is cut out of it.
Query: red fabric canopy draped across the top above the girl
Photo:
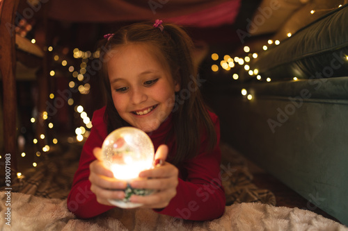
[[[68,22],[162,19],[184,26],[233,24],[240,0],[52,0],[49,17]]]

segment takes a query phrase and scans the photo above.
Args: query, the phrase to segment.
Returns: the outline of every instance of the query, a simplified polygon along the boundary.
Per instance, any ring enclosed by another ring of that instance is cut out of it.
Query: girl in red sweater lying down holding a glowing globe
[[[126,182],[113,178],[101,161],[102,142],[116,128],[134,126],[148,133],[161,166],[143,171],[134,188],[155,189],[130,201],[180,219],[219,218],[226,198],[221,186],[219,119],[209,112],[198,89],[193,43],[180,26],[139,23],[125,26],[107,41],[100,59],[106,107],[93,114],[68,196],[80,218],[102,214],[121,200]],[[117,190],[118,189],[118,190]]]

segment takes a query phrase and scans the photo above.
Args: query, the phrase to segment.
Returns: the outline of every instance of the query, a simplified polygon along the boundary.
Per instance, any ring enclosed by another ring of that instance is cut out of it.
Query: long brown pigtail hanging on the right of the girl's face
[[[198,86],[198,67],[192,57],[193,42],[186,31],[180,26],[164,24],[164,32],[171,37],[175,47],[172,58],[177,63],[179,73],[175,78],[180,83],[173,111],[173,128],[177,141],[177,153],[171,162],[178,164],[198,154],[200,148],[211,150],[216,146],[217,137],[214,124],[200,94]],[[175,110],[175,108],[174,108]],[[207,134],[207,146],[200,147],[201,135]]]

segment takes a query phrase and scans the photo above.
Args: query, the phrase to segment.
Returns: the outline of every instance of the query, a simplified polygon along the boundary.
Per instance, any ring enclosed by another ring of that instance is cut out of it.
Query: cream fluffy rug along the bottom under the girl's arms
[[[1,217],[6,212],[6,195],[0,194]],[[94,219],[77,219],[66,200],[12,193],[10,226],[0,219],[1,230],[347,230],[344,225],[308,210],[241,203],[226,207],[214,221],[182,221],[151,209],[111,209]]]

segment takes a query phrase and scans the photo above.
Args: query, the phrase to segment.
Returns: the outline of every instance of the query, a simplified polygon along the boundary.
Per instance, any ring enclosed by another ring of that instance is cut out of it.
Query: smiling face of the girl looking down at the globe
[[[180,90],[168,67],[159,62],[152,46],[127,44],[109,54],[113,104],[132,126],[152,132],[171,114],[175,92]],[[159,52],[159,51],[158,51]]]

